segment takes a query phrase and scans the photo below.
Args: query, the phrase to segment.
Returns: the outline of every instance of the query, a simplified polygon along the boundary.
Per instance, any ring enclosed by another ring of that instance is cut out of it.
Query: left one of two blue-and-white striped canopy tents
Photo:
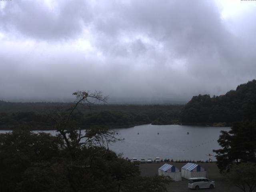
[[[167,163],[158,169],[158,175],[169,176],[174,181],[181,181],[180,170]]]

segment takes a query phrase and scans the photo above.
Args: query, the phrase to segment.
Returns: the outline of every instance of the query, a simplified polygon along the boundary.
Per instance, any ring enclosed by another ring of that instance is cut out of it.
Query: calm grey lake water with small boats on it
[[[109,147],[129,159],[160,157],[174,160],[207,160],[208,154],[215,155],[213,149],[220,148],[217,140],[221,130],[228,131],[230,128],[147,124],[116,129],[116,136],[124,140]],[[4,132],[7,131],[0,131]],[[56,134],[56,131],[45,132]],[[210,158],[215,160],[214,156]]]

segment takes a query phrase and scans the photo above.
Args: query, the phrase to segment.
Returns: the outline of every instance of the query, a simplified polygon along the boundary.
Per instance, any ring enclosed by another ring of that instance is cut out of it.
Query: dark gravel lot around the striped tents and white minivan
[[[145,163],[140,164],[140,175],[141,176],[154,176],[158,174],[158,168],[163,164],[168,163],[181,169],[186,163],[175,163],[175,162],[161,162],[161,163]],[[206,169],[208,178],[215,181],[216,188],[214,189],[200,189],[199,191],[206,192],[242,192],[239,188],[232,186],[229,182],[226,182],[223,176],[219,173],[219,169],[215,163],[197,163]],[[188,180],[182,178],[182,181],[170,182],[167,186],[168,192],[192,192],[195,190],[188,188]]]

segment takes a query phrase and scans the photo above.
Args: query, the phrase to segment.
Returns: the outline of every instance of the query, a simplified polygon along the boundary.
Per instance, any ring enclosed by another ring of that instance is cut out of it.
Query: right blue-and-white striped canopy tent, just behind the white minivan
[[[204,168],[202,168],[198,164],[194,163],[187,163],[181,168],[181,175],[182,177],[189,179],[193,177],[206,177],[207,178],[207,172]]]

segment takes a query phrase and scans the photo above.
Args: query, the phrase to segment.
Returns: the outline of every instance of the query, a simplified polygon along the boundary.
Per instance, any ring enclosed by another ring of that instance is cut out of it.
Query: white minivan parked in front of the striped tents
[[[215,188],[215,182],[204,177],[189,178],[188,188],[201,189],[201,188]]]

